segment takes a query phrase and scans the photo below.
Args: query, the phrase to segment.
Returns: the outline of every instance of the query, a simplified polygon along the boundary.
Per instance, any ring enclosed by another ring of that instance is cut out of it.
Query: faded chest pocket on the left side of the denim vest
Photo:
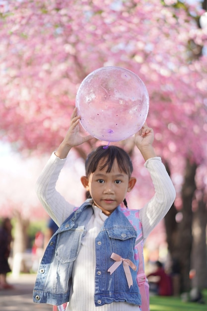
[[[80,226],[58,234],[58,246],[56,249],[57,259],[62,263],[74,261],[80,249],[81,238],[85,233],[84,226]]]

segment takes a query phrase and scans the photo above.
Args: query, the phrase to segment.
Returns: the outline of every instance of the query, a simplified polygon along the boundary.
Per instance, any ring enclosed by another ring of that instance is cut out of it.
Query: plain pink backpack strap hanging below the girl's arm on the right
[[[138,287],[141,294],[141,311],[149,311],[149,285],[144,273],[144,264],[143,264],[143,256],[142,256],[142,236],[136,241],[136,247],[138,249]]]

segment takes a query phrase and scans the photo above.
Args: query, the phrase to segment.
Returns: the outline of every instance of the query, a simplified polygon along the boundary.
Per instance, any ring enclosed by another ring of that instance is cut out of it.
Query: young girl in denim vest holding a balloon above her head
[[[153,131],[146,124],[135,135],[155,195],[140,210],[122,208],[136,183],[128,154],[121,148],[98,147],[86,160],[81,182],[91,198],[74,208],[55,189],[70,149],[92,136],[79,135],[74,109],[69,131],[52,154],[37,182],[37,194],[60,226],[49,241],[34,287],[34,302],[62,305],[67,311],[139,311],[136,238],[145,240],[166,215],[175,190],[161,158],[152,147]],[[134,222],[135,221],[135,222]],[[135,226],[136,224],[136,226]],[[142,232],[141,232],[142,231]]]

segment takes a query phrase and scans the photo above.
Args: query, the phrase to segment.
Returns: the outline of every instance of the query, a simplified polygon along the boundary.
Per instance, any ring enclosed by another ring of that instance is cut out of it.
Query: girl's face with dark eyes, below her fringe
[[[95,172],[88,177],[82,176],[81,182],[90,192],[94,204],[110,215],[124,201],[126,193],[133,189],[136,178],[120,171],[116,160],[110,172],[106,172],[107,166],[100,169],[103,164],[104,160],[100,161]]]

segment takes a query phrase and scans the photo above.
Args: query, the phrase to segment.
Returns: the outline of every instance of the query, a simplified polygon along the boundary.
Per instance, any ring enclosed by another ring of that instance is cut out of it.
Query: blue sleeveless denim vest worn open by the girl
[[[86,233],[85,225],[92,214],[92,206],[84,202],[50,239],[38,270],[33,291],[34,302],[58,306],[69,302],[73,262],[77,258],[81,239]],[[137,282],[138,256],[135,248],[135,241],[139,235],[142,236],[142,229],[137,210],[118,207],[105,220],[95,239],[94,303],[96,306],[113,302],[141,305]],[[123,264],[112,274],[107,272],[115,262],[111,258],[112,253],[131,260],[137,266],[136,271],[130,268],[133,279],[130,288]]]

